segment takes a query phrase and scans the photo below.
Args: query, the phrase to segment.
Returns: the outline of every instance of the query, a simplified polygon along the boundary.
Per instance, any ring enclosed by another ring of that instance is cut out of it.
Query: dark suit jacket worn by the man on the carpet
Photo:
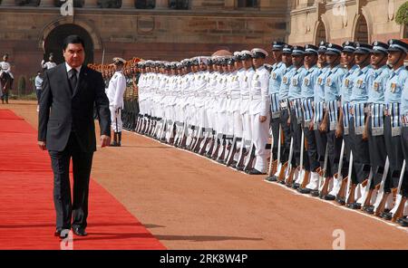
[[[94,105],[101,135],[111,136],[111,112],[102,74],[83,66],[78,85],[71,91],[65,62],[47,70],[40,99],[38,140],[45,141],[48,150],[63,151],[74,129],[81,150],[95,151]]]

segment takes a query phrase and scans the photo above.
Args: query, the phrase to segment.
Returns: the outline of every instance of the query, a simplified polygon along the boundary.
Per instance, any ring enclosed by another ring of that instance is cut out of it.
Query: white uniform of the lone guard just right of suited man
[[[106,95],[109,99],[109,109],[111,110],[112,129],[114,132],[121,132],[121,109],[123,109],[123,93],[126,90],[126,78],[121,71],[115,72],[109,81]]]

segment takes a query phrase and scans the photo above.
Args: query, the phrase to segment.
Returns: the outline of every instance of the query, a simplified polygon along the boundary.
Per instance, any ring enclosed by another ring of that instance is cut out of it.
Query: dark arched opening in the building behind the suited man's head
[[[61,24],[53,30],[44,39],[44,60],[48,55],[53,53],[56,63],[63,62],[63,40],[66,36],[78,34],[83,38],[85,43],[85,64],[93,62],[93,42],[91,35],[77,24]]]

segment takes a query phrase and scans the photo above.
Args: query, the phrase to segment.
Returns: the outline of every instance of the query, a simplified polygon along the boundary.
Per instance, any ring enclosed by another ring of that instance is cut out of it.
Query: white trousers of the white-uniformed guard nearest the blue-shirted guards
[[[267,171],[267,156],[269,155],[266,149],[267,140],[269,139],[269,113],[267,113],[267,120],[259,121],[259,114],[251,115],[252,119],[252,142],[255,145],[255,166],[254,168],[260,172]]]

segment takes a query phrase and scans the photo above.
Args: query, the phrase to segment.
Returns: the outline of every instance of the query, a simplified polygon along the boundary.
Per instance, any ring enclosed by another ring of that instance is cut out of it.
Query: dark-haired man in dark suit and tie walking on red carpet
[[[48,149],[53,167],[55,236],[87,235],[89,178],[96,150],[93,106],[99,114],[102,147],[111,142],[111,112],[100,72],[85,65],[83,39],[70,35],[63,43],[65,62],[44,72],[38,119],[38,145]],[[73,158],[73,202],[69,179]]]

